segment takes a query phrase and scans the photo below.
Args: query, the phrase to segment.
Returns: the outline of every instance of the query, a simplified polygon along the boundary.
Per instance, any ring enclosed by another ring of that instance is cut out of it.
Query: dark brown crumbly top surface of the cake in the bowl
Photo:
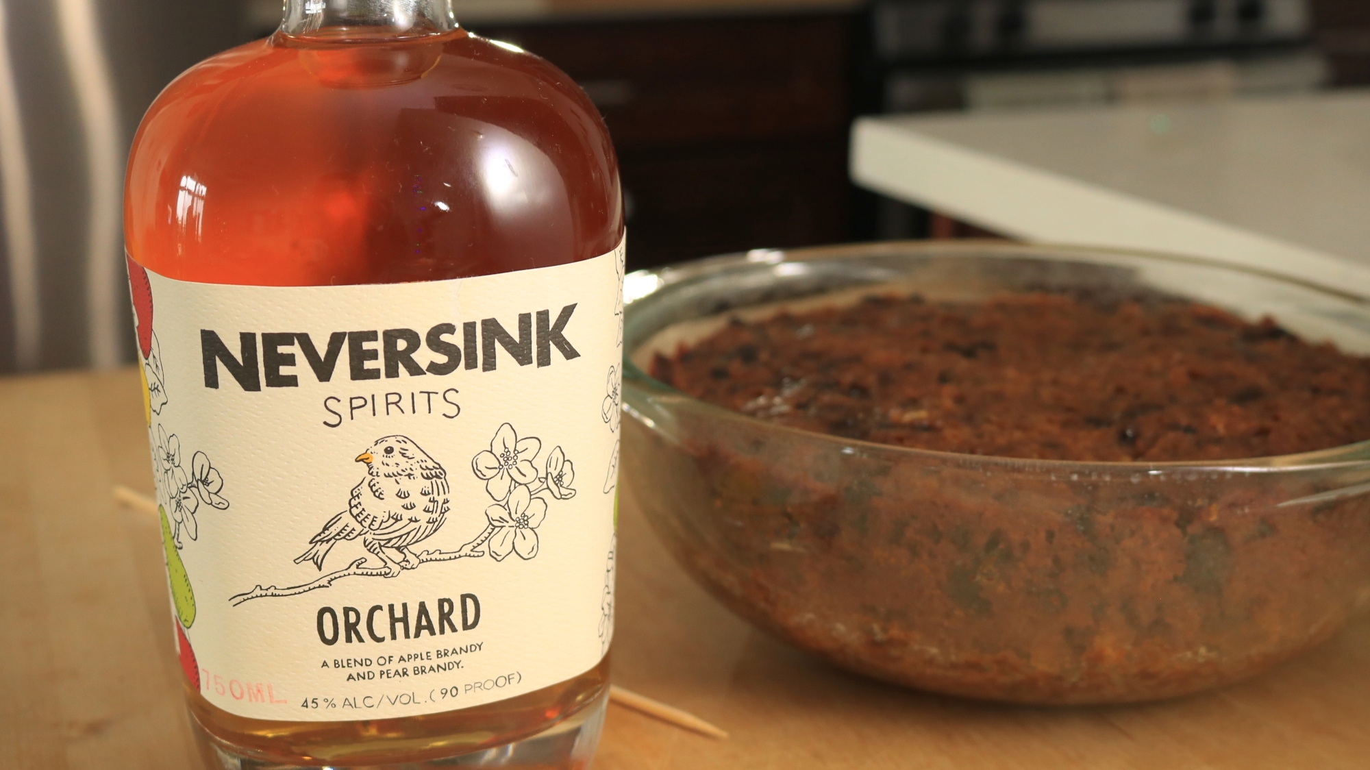
[[[1211,460],[1370,438],[1370,360],[1163,299],[870,297],[733,321],[652,374],[762,419],[974,455]]]

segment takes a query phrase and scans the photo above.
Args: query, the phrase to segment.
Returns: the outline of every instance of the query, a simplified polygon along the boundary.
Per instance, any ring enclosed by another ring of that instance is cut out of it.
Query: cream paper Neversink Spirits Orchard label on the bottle
[[[604,658],[622,247],[423,284],[130,277],[181,663],[210,703],[408,717]]]

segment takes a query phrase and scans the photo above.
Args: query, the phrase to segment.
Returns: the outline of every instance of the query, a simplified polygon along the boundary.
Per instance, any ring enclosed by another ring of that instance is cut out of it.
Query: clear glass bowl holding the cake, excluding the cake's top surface
[[[1163,292],[1370,353],[1370,307],[1196,259],[1001,244],[764,251],[627,277],[622,467],[680,563],[833,663],[1018,703],[1178,696],[1317,645],[1370,604],[1370,443],[1075,463],[852,441],[651,378],[733,315],[917,290]]]

